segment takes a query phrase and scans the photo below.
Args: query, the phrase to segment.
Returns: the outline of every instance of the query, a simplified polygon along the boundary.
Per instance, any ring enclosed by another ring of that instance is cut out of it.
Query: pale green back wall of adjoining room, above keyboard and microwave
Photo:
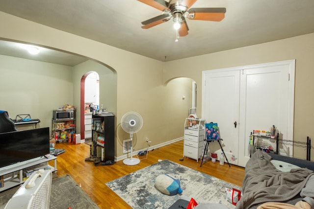
[[[12,119],[29,114],[51,128],[52,110],[73,102],[72,67],[0,55],[0,73],[0,109]]]

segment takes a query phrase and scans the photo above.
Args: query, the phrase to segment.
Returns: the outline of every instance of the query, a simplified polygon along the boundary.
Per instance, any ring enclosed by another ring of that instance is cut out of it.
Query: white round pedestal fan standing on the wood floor
[[[136,112],[126,113],[121,118],[121,127],[125,132],[130,134],[131,139],[131,157],[123,160],[123,163],[126,165],[136,165],[140,162],[138,158],[133,158],[133,134],[141,130],[142,126],[143,119]]]

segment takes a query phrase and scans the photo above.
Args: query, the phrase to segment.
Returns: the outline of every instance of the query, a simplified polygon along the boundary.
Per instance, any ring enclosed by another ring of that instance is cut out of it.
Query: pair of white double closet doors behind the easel
[[[280,139],[293,139],[294,70],[295,60],[203,71],[202,117],[218,123],[230,163],[245,167],[254,129],[275,125]],[[221,152],[216,142],[209,148]],[[292,147],[279,152],[292,156]]]

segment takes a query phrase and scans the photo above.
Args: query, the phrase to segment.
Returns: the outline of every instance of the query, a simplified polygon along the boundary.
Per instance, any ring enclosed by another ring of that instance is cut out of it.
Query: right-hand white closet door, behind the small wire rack
[[[245,166],[250,158],[249,136],[253,130],[269,131],[275,125],[279,139],[293,139],[294,70],[290,71],[291,67],[294,68],[294,62],[256,65],[241,70],[238,165]],[[265,143],[276,149],[274,139],[266,139]],[[292,155],[292,147],[279,145],[281,155]]]

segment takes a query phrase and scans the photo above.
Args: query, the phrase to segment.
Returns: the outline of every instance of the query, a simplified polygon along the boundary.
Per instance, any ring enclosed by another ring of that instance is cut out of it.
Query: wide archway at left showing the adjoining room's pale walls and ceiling
[[[116,113],[117,73],[111,67],[75,53],[34,45],[39,46],[43,52],[40,54],[41,59],[38,59],[35,55],[28,55],[25,49],[17,47],[21,44],[32,45],[31,43],[12,39],[0,39],[0,41],[8,42],[16,47],[14,50],[19,50],[14,52],[13,49],[12,51],[10,49],[7,55],[0,55],[1,73],[8,78],[2,82],[3,85],[15,84],[1,96],[3,101],[7,101],[5,103],[8,104],[3,104],[2,108],[8,110],[12,118],[27,113],[32,118],[40,119],[41,122],[37,124],[37,127],[50,127],[52,130],[52,110],[65,104],[71,104],[77,109],[76,133],[80,133],[81,127],[84,126],[82,125],[84,118],[81,118],[84,116],[84,107],[80,105],[80,101],[84,104],[84,96],[81,96],[81,83],[91,71],[100,74],[100,80],[103,82],[100,86],[102,88],[100,104],[103,103],[107,110]],[[3,46],[0,44],[0,47]],[[49,58],[49,56],[51,57]],[[58,59],[58,62],[53,62]],[[25,80],[27,80],[27,86],[25,86]],[[21,99],[23,105],[21,105]],[[29,128],[32,127],[21,126],[19,130]]]

